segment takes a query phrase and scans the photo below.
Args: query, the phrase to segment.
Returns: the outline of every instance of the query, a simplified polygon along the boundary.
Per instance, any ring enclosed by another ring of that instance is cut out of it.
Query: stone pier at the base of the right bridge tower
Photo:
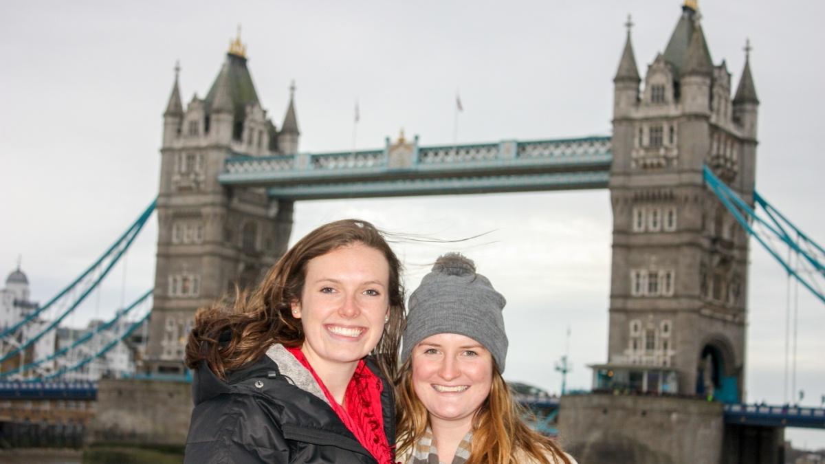
[[[725,424],[718,402],[594,394],[563,396],[559,408],[559,437],[579,462],[784,462],[784,428]]]

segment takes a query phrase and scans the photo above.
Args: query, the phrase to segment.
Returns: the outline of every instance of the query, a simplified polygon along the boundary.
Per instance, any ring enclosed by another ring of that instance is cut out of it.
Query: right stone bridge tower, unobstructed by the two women
[[[594,388],[742,400],[747,234],[702,167],[752,202],[759,101],[749,59],[732,99],[688,0],[640,87],[627,26],[614,78],[608,362],[594,367]]]

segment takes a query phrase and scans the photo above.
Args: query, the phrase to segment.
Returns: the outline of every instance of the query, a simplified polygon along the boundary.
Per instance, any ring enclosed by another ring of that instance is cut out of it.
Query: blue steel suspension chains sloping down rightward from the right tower
[[[793,276],[798,282],[802,283],[808,291],[811,291],[814,296],[817,296],[820,301],[825,303],[825,291],[823,291],[813,279],[813,277],[819,276],[823,279],[823,282],[825,282],[825,267],[823,267],[825,251],[823,251],[823,248],[810,239],[808,235],[803,234],[797,229],[790,220],[787,220],[784,215],[776,211],[775,208],[757,192],[753,192],[754,202],[766,211],[766,215],[768,215],[768,219],[771,222],[757,215],[754,208],[749,206],[736,192],[733,192],[730,187],[717,178],[707,166],[703,168],[703,174],[705,183],[707,183],[710,189],[719,197],[719,201],[722,201],[722,204],[728,208],[728,211],[736,218],[739,225],[742,225],[742,228],[747,230],[748,234],[751,234],[757,239],[759,244],[785,268],[785,272],[788,272],[788,274]],[[755,230],[752,224],[753,221],[763,226],[768,231],[768,234],[761,234]],[[796,237],[794,238],[786,229],[793,230],[796,233]],[[780,256],[779,251],[772,247],[771,244],[768,244],[768,241],[771,239],[780,239],[780,241],[787,244],[797,256],[804,258],[804,261],[798,260],[798,262],[808,263],[808,265],[813,268],[813,272],[808,273],[810,277],[803,275],[797,269],[794,269],[790,263],[785,261],[785,259]],[[800,246],[800,244],[802,244],[802,246]],[[805,247],[805,249],[803,247]]]

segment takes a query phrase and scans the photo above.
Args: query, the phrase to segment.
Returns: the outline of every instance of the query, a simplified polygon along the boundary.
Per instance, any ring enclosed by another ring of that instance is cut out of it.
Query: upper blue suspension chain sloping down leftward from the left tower
[[[16,355],[17,353],[20,353],[22,350],[24,350],[24,349],[30,347],[32,344],[36,343],[45,334],[47,334],[50,330],[57,327],[58,324],[60,324],[60,322],[62,322],[64,319],[66,319],[66,317],[68,317],[68,315],[71,314],[73,310],[78,308],[78,305],[80,305],[82,303],[82,301],[85,300],[86,297],[89,296],[89,294],[92,293],[92,291],[95,288],[97,288],[97,286],[100,284],[100,282],[103,280],[103,278],[106,277],[106,275],[111,271],[111,268],[115,267],[115,264],[120,260],[120,258],[126,252],[126,250],[129,249],[132,242],[134,242],[134,239],[136,239],[138,234],[140,233],[140,230],[143,229],[144,225],[148,221],[149,216],[152,215],[152,212],[154,211],[154,208],[155,208],[156,204],[157,204],[157,200],[152,201],[152,203],[146,208],[146,210],[144,210],[144,212],[139,216],[139,218],[137,220],[135,220],[134,223],[130,226],[129,230],[126,230],[125,234],[121,235],[120,239],[118,239],[117,242],[115,242],[114,245],[112,245],[108,250],[106,250],[106,253],[104,253],[104,255],[101,256],[101,258],[99,258],[97,260],[97,262],[95,262],[92,265],[91,268],[88,268],[86,272],[83,272],[81,277],[78,277],[78,279],[76,279],[71,285],[66,287],[64,289],[64,291],[61,291],[58,296],[54,297],[43,308],[40,308],[39,310],[36,310],[31,315],[29,315],[29,317],[22,320],[19,324],[16,324],[14,327],[12,327],[11,329],[8,329],[6,332],[3,333],[3,334],[11,334],[16,329],[19,329],[23,324],[31,322],[31,320],[33,320],[36,315],[40,315],[40,313],[42,313],[46,308],[48,308],[50,305],[52,305],[54,303],[54,301],[59,300],[59,298],[61,296],[64,296],[66,293],[68,293],[68,291],[70,291],[75,286],[77,286],[78,283],[82,281],[83,277],[86,277],[88,274],[90,274],[92,272],[92,270],[97,268],[103,262],[103,260],[105,258],[109,257],[112,253],[114,253],[114,256],[111,258],[111,262],[106,265],[106,268],[104,268],[103,271],[100,273],[100,275],[97,277],[97,279],[94,282],[92,282],[92,285],[89,286],[85,291],[83,291],[82,295],[78,298],[77,301],[74,301],[72,305],[69,305],[67,310],[64,310],[64,312],[62,314],[60,314],[58,317],[54,318],[54,320],[52,320],[50,324],[46,325],[45,329],[41,330],[40,333],[35,334],[30,339],[27,339],[25,343],[21,343],[20,346],[18,346],[16,348],[13,348],[11,351],[9,351],[8,353],[6,353],[2,357],[0,357],[0,363],[6,361],[8,358]]]

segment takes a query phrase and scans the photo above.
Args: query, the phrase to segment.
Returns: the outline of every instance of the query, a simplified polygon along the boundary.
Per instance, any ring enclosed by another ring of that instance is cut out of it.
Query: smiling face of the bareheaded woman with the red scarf
[[[319,376],[355,368],[384,332],[389,264],[379,250],[356,243],[309,260],[301,301],[292,314],[304,327],[301,351]]]

